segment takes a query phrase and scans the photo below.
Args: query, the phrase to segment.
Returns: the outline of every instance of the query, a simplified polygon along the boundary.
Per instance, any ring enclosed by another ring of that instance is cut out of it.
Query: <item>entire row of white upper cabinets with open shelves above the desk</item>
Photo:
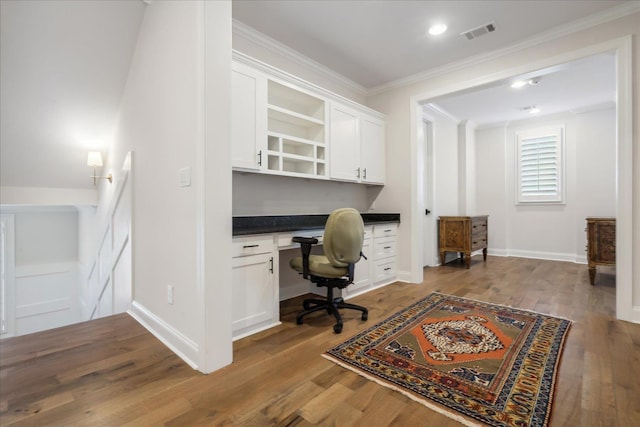
[[[384,184],[381,114],[244,56],[231,80],[234,170]]]

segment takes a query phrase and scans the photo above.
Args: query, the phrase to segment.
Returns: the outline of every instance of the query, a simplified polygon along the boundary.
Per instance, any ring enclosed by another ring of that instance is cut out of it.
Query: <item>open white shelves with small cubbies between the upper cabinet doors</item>
[[[325,101],[269,80],[267,109],[267,171],[328,179]]]

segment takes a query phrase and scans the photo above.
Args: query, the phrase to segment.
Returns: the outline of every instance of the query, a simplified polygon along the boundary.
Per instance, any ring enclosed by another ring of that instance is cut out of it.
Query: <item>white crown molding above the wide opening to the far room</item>
[[[430,78],[441,76],[443,74],[452,73],[454,71],[482,64],[484,62],[488,62],[502,56],[509,55],[511,53],[528,49],[530,47],[537,46],[539,44],[546,43],[560,37],[594,27],[596,25],[623,18],[637,12],[640,12],[640,2],[624,3],[620,6],[612,7],[611,9],[607,9],[599,13],[594,13],[593,15],[571,22],[567,25],[545,31],[511,46],[507,46],[505,48],[494,50],[488,53],[474,55],[461,61],[450,62],[440,67],[435,67],[430,70],[403,77],[389,83],[384,83],[382,85],[369,89],[368,95],[378,95],[392,89],[398,89],[400,87],[428,80]]]

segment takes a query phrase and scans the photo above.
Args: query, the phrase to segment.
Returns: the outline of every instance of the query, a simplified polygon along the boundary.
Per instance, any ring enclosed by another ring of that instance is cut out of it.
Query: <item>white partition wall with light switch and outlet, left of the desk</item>
[[[205,372],[232,353],[230,75],[230,2],[148,4],[105,165],[133,152],[132,313]]]

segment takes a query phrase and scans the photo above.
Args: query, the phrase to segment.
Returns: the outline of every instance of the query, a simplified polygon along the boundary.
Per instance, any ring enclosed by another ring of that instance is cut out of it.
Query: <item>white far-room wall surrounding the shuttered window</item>
[[[562,205],[515,203],[515,134],[538,126],[565,129]],[[614,109],[478,130],[476,155],[479,209],[490,215],[490,253],[586,262],[585,218],[615,216]]]

